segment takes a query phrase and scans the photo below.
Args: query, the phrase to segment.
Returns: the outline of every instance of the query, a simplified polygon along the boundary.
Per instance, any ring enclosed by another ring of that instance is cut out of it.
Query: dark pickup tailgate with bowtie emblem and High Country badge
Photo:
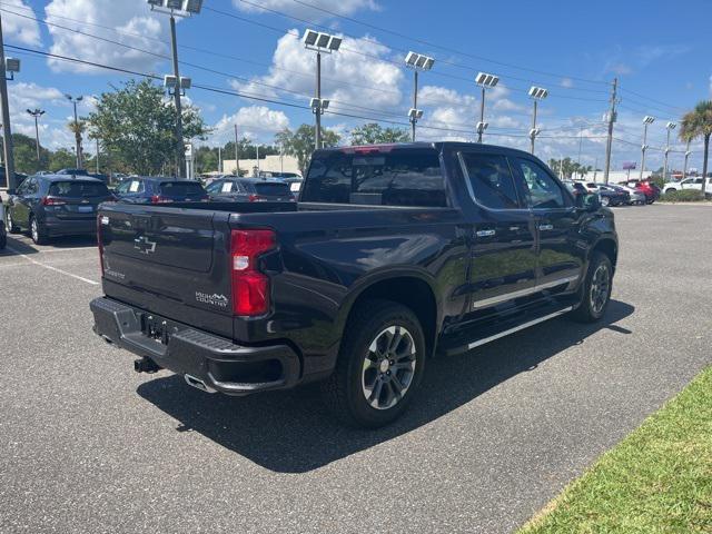
[[[102,205],[99,225],[107,296],[233,335],[228,214]]]

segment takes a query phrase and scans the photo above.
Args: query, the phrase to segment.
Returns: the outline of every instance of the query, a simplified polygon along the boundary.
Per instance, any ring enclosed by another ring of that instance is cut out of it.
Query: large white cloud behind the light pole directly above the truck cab
[[[283,98],[308,102],[314,95],[316,55],[304,48],[294,37],[295,32],[283,36],[277,42],[267,75],[255,77],[250,82],[233,80],[231,86],[250,95],[275,98],[281,92]],[[393,111],[399,106],[403,71],[390,62],[374,59],[386,59],[388,52],[388,48],[373,39],[347,37],[339,52],[323,55],[322,95],[332,101],[329,109],[368,115],[369,111],[363,108]]]

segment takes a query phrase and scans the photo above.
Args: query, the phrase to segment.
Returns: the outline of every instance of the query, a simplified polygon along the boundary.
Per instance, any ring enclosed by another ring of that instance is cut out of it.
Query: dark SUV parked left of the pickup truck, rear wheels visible
[[[113,200],[102,181],[70,175],[30,176],[8,195],[8,231],[29,230],[37,245],[55,236],[95,235],[97,207]]]

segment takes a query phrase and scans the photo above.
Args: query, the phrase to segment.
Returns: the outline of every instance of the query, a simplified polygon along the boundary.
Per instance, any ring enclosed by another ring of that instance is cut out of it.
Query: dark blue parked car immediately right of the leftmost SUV
[[[206,202],[210,199],[198,181],[146,176],[127,178],[117,186],[116,195],[119,201],[129,204]]]

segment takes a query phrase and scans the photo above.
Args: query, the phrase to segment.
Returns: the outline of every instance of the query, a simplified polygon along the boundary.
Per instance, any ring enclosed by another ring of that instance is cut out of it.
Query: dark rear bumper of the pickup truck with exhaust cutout
[[[174,373],[198,378],[209,389],[248,395],[289,388],[299,380],[299,357],[286,344],[236,345],[106,297],[93,299],[90,308],[93,330],[106,340]]]

